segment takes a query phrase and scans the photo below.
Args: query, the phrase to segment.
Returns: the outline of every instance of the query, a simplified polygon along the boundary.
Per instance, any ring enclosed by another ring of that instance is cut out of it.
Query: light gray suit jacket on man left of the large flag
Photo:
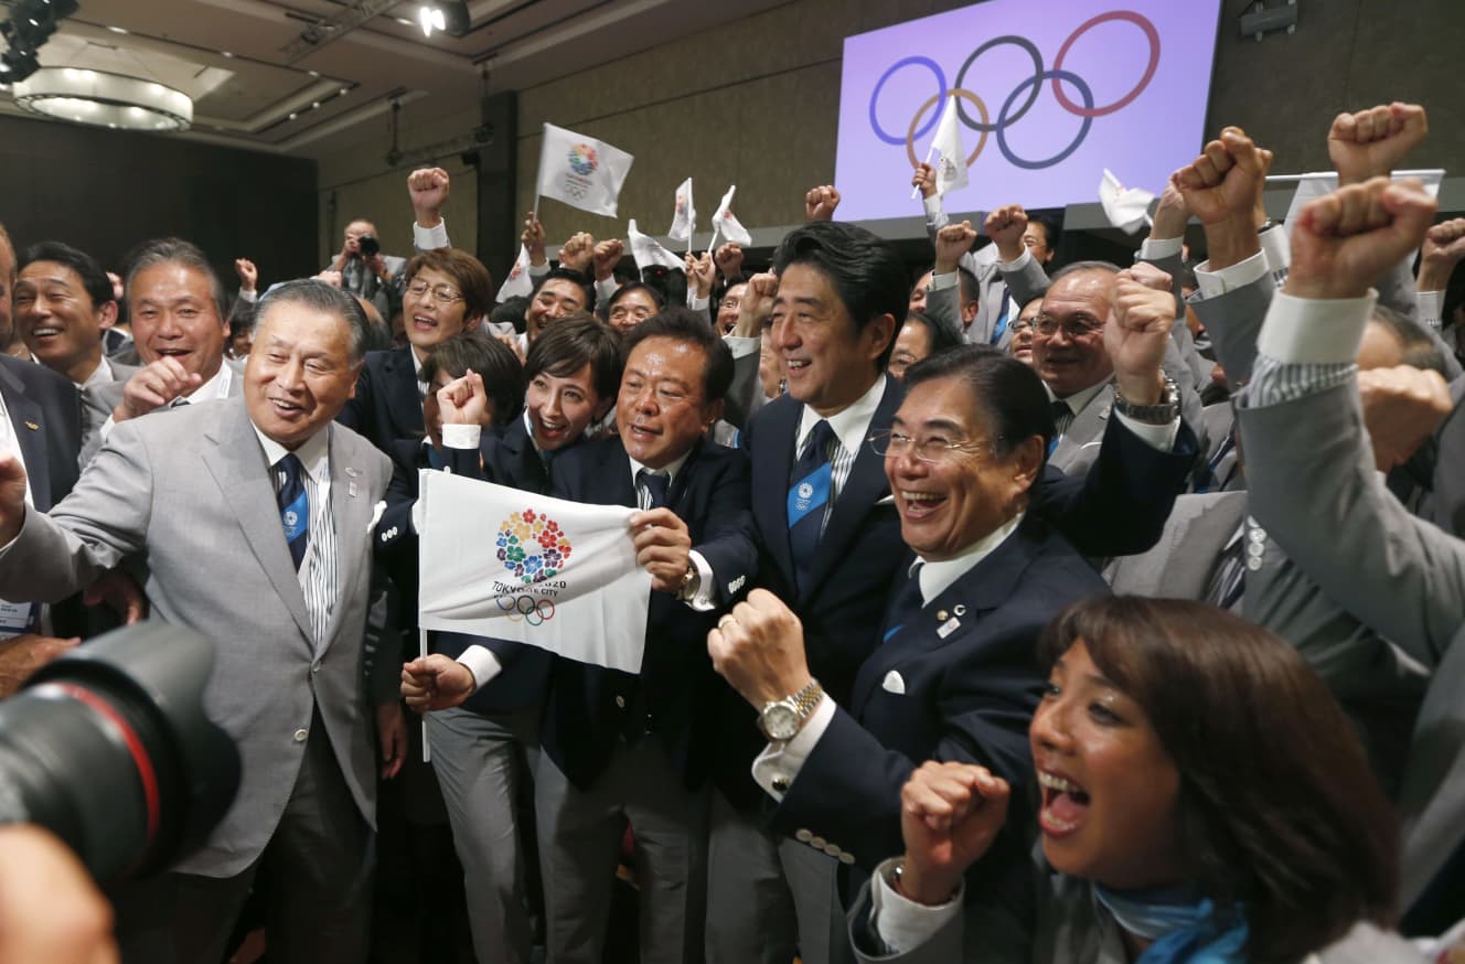
[[[50,516],[26,514],[0,566],[0,595],[51,601],[145,555],[152,615],[215,642],[204,709],[239,746],[243,776],[204,847],[176,866],[185,873],[231,876],[259,856],[294,788],[305,749],[296,734],[316,709],[352,798],[375,820],[363,637],[369,523],[388,467],[355,432],[327,431],[340,596],[324,639],[311,630],[270,467],[239,400],[119,425]],[[375,702],[393,699],[390,683]]]

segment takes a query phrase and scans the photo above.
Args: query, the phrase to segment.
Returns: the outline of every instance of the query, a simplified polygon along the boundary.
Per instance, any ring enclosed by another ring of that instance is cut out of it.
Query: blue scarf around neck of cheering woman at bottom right
[[[1119,926],[1150,941],[1135,964],[1245,964],[1247,913],[1239,904],[1219,914],[1193,891],[1110,891],[1093,885],[1094,897]]]

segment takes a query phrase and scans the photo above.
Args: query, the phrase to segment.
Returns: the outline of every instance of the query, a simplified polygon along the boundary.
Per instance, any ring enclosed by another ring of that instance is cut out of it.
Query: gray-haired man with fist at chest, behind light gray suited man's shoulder
[[[127,271],[127,309],[144,366],[95,391],[105,420],[82,445],[88,463],[114,425],[158,409],[243,394],[245,366],[224,359],[224,286],[195,245],[177,237],[145,243]]]

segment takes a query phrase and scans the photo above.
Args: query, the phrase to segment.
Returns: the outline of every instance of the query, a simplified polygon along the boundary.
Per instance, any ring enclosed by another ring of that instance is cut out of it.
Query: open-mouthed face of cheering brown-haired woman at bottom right
[[[1115,889],[1175,883],[1181,776],[1144,709],[1083,640],[1053,665],[1028,730],[1037,825],[1055,870]]]

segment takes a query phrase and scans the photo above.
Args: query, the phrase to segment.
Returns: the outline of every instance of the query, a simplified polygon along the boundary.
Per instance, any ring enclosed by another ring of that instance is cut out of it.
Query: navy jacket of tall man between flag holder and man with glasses
[[[891,426],[902,397],[900,382],[886,379],[870,432]],[[803,403],[790,396],[775,398],[743,435],[753,457],[753,523],[762,549],[757,580],[798,614],[812,672],[847,706],[856,674],[879,643],[885,602],[897,577],[904,577],[900,564],[908,554],[885,460],[861,445],[819,541],[813,577],[795,590],[787,492],[801,415]],[[1030,513],[1047,519],[1086,555],[1147,549],[1184,488],[1197,453],[1195,437],[1182,426],[1175,451],[1159,453],[1115,420],[1096,451],[1086,476],[1045,469],[1033,488]],[[724,687],[722,716],[718,785],[732,803],[756,807],[763,793],[749,778],[749,765],[765,744],[757,713]]]

